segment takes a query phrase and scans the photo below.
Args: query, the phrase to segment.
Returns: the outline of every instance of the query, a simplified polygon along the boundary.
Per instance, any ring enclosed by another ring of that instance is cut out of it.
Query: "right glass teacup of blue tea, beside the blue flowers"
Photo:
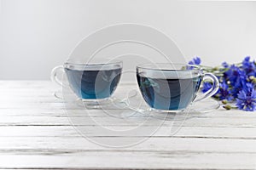
[[[212,88],[198,96],[203,80],[209,79]],[[218,78],[204,73],[198,65],[186,64],[144,64],[137,65],[137,83],[148,111],[178,113],[189,111],[195,102],[216,94]]]

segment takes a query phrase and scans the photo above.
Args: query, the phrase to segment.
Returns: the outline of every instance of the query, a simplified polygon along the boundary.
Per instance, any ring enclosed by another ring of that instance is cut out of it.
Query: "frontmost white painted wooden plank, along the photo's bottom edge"
[[[0,156],[0,168],[255,169],[256,154],[180,151],[85,151],[57,155]],[[227,161],[231,160],[231,161]]]

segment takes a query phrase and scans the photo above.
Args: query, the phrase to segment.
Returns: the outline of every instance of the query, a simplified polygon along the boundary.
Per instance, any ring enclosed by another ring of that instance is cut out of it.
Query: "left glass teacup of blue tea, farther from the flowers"
[[[63,88],[67,86],[71,88],[78,101],[82,101],[85,107],[101,108],[102,105],[113,103],[111,97],[118,87],[122,68],[121,60],[89,62],[84,65],[67,62],[55,67],[51,73],[51,79],[61,84]],[[57,75],[63,71],[67,77],[66,84],[57,78]]]

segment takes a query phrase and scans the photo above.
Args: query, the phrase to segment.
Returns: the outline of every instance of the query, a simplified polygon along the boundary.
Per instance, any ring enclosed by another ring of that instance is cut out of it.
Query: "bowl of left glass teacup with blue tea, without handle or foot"
[[[108,99],[118,86],[122,61],[107,64],[64,64],[70,88],[83,101]]]

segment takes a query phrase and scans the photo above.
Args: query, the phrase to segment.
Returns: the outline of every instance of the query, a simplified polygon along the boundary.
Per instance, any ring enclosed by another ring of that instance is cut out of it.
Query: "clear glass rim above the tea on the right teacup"
[[[174,66],[178,66],[179,69],[175,68]],[[189,66],[193,69],[182,70],[184,66]],[[148,71],[202,71],[202,68],[199,65],[190,65],[182,63],[145,63],[142,65],[137,65],[137,69],[143,69]]]

